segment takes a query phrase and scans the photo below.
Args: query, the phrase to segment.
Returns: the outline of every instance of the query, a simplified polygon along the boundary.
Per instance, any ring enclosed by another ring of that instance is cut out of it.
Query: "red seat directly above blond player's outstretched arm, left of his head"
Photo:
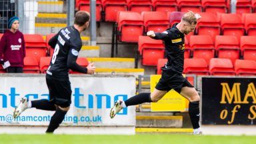
[[[141,14],[144,20],[145,31],[163,32],[170,27],[167,14],[164,12],[145,11]]]

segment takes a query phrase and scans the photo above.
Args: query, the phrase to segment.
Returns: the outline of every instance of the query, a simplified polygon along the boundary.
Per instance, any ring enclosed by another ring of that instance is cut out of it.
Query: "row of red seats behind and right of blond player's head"
[[[256,35],[256,13],[199,13],[202,17],[197,21],[196,35],[235,35],[238,39],[241,35]],[[183,12],[169,13],[171,25],[180,21]]]

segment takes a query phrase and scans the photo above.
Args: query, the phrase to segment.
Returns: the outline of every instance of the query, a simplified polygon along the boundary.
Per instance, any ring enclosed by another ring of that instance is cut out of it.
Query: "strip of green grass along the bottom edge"
[[[137,135],[0,135],[0,143],[6,144],[246,144],[255,143],[255,136],[210,136],[177,134],[137,134]]]

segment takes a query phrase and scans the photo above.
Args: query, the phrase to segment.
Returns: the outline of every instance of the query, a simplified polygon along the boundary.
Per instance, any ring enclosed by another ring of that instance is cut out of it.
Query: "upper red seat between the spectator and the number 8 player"
[[[40,57],[47,55],[47,48],[45,40],[42,35],[39,34],[24,34],[26,56],[35,57],[37,62],[40,61]]]

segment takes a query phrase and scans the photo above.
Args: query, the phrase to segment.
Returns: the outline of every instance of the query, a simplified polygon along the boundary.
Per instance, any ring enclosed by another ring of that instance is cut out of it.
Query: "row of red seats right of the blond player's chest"
[[[232,35],[218,35],[215,41],[209,35],[192,35],[188,41],[189,47],[185,49],[185,57],[203,58],[207,63],[213,57],[231,59],[256,60],[256,36],[242,36],[238,41]],[[187,39],[188,40],[188,39]]]

